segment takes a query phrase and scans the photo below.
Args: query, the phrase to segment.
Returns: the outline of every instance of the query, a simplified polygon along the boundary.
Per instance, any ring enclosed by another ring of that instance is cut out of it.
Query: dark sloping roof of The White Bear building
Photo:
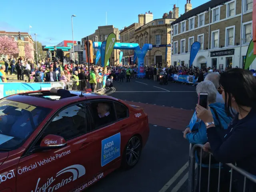
[[[228,2],[230,0],[211,0],[211,1],[208,1],[206,2],[205,4],[202,4],[186,13],[184,13],[182,16],[180,16],[178,19],[176,19],[174,22],[171,23],[171,25],[174,25],[174,24],[177,24],[183,20],[186,20],[192,16],[196,16],[202,12],[205,12],[207,10],[209,10],[209,7],[210,8],[214,8],[216,6],[219,6],[225,2]]]

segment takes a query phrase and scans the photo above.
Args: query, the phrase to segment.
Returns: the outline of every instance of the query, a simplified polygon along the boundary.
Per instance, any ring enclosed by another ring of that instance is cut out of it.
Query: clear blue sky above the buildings
[[[207,1],[191,0],[192,7]],[[107,24],[122,29],[138,22],[138,14],[149,10],[154,19],[162,18],[165,12],[172,10],[173,4],[180,8],[179,14],[184,13],[186,0],[2,0],[0,30],[29,32],[32,26],[32,38],[36,33],[37,40],[49,46],[72,40],[72,14],[76,15],[73,18],[74,40],[80,41],[94,33],[98,26],[106,25],[106,12]]]

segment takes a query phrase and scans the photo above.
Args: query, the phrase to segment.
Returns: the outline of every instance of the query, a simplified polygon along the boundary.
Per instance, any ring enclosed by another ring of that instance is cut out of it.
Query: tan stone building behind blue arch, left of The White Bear
[[[134,23],[120,31],[121,42],[138,43],[142,48],[144,44],[152,44],[152,50],[148,51],[144,64],[146,66],[171,63],[171,23],[178,18],[179,8],[174,5],[173,11],[164,13],[162,18],[153,20],[153,14],[148,12],[144,17],[152,16],[150,19],[142,20],[142,14],[138,15],[139,23]],[[134,64],[134,52],[124,50],[123,64]]]

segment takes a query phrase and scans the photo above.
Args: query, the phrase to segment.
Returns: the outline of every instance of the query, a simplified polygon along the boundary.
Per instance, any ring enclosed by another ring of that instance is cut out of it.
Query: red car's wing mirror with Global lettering
[[[65,139],[58,135],[47,135],[43,138],[40,144],[40,148],[44,150],[62,148],[66,146]]]

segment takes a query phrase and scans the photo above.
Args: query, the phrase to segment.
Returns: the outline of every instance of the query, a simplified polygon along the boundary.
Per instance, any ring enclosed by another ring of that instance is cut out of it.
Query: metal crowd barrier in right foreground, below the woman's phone
[[[202,182],[201,179],[202,177],[202,153],[203,153],[203,145],[202,144],[194,144],[194,146],[192,144],[190,144],[190,152],[189,152],[189,172],[188,172],[188,192],[206,192],[206,190],[202,190]],[[200,149],[200,161],[199,164],[200,166],[197,166],[197,185],[195,185],[195,158],[196,158],[196,152],[198,152],[197,149]],[[214,169],[213,168],[213,164],[211,164],[211,161],[213,161],[213,155],[211,152],[208,152],[209,156],[209,168],[208,168],[208,184],[207,184],[207,192],[211,192],[211,191],[218,191],[218,192],[232,192],[232,186],[233,186],[233,182],[234,182],[234,178],[233,178],[233,170],[235,170],[237,173],[240,174],[241,178],[243,177],[244,181],[243,181],[243,186],[239,186],[242,187],[242,190],[239,190],[237,187],[235,188],[236,191],[238,192],[252,192],[252,189],[250,188],[250,190],[248,189],[248,180],[250,180],[250,182],[252,184],[256,185],[256,176],[253,174],[250,174],[248,172],[246,172],[245,170],[235,166],[234,164],[228,163],[226,164],[228,166],[228,168],[230,168],[230,175],[222,175],[221,173],[223,173],[221,170],[223,169],[222,163],[219,162],[218,163],[218,182],[216,182],[217,186],[212,186],[212,181],[211,181],[211,172]],[[211,167],[212,166],[212,167]],[[215,167],[216,169],[216,167]],[[199,174],[199,176],[198,176]],[[206,176],[207,177],[207,176]],[[198,180],[199,178],[199,180]],[[223,189],[223,186],[221,186],[221,183],[223,183],[222,178],[226,179],[226,178],[230,178],[229,179],[229,183],[224,183],[228,184],[227,188]],[[205,179],[205,178],[204,178]],[[211,185],[210,185],[211,184]],[[253,187],[253,186],[251,186]],[[221,189],[222,188],[222,189]],[[255,188],[254,188],[255,191]]]

